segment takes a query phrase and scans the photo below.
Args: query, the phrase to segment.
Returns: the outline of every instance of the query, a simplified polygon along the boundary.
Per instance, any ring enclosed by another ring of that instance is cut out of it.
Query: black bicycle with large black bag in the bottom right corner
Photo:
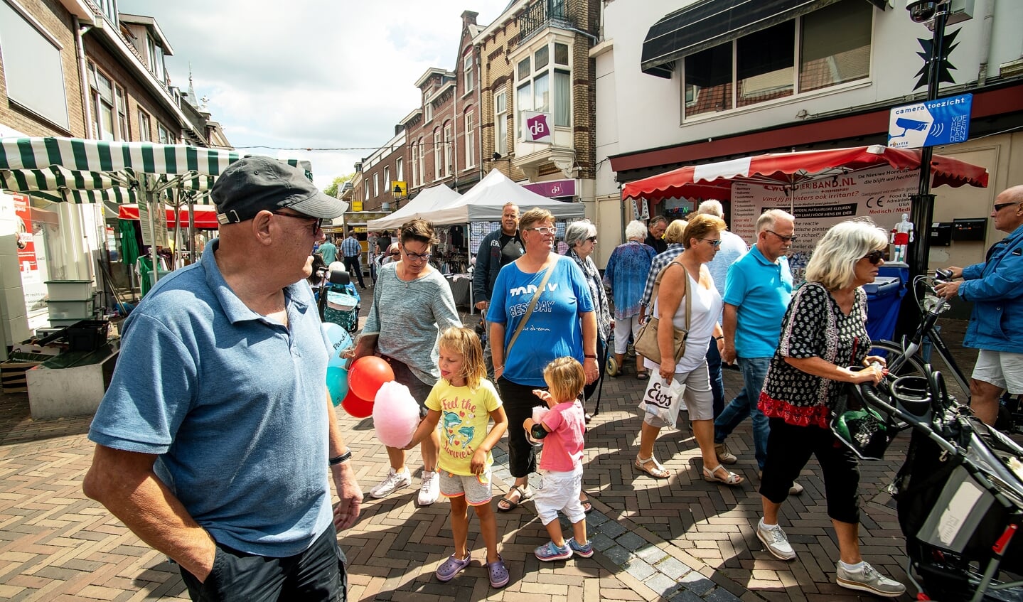
[[[930,366],[850,390],[865,413],[840,416],[850,428],[836,434],[861,457],[913,429],[890,491],[921,599],[1023,601],[1023,448],[976,419]]]

